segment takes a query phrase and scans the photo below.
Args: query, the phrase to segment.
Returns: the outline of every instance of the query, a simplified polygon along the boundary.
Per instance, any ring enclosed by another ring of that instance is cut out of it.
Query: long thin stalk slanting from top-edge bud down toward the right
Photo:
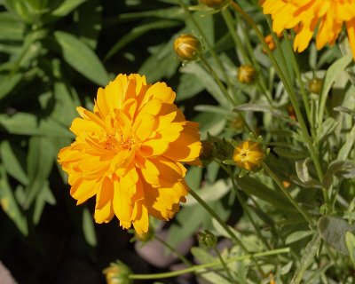
[[[322,172],[321,167],[320,167],[319,157],[318,157],[318,154],[316,153],[316,151],[314,149],[312,138],[310,137],[310,135],[308,133],[307,126],[305,125],[303,115],[301,113],[300,107],[298,106],[298,103],[297,103],[297,100],[296,100],[295,91],[293,90],[292,86],[289,84],[288,78],[282,73],[282,70],[280,69],[280,66],[279,66],[277,60],[273,56],[272,51],[269,48],[269,45],[267,43],[265,43],[264,36],[260,32],[259,28],[257,28],[254,20],[252,20],[249,17],[249,15],[246,12],[244,12],[241,9],[241,7],[238,4],[236,4],[235,2],[232,2],[232,6],[233,6],[233,9],[235,9],[237,12],[241,13],[241,16],[244,18],[244,20],[246,20],[248,22],[248,24],[251,26],[251,28],[253,28],[255,30],[256,36],[259,38],[259,40],[262,43],[265,51],[267,52],[269,58],[271,59],[272,65],[273,65],[273,67],[275,67],[276,71],[278,72],[278,75],[280,76],[280,79],[281,79],[282,83],[284,84],[286,91],[288,91],[288,96],[289,96],[289,99],[291,100],[292,105],[295,108],[296,117],[297,117],[297,120],[298,120],[298,122],[300,124],[302,135],[303,135],[304,140],[305,140],[305,142],[306,142],[306,144],[308,146],[308,151],[311,154],[312,161],[313,161],[313,163],[314,163],[314,165],[316,167],[317,175],[319,177],[319,181],[322,182],[323,181],[323,172]],[[328,203],[327,196],[324,196],[324,198],[325,198],[325,201]]]

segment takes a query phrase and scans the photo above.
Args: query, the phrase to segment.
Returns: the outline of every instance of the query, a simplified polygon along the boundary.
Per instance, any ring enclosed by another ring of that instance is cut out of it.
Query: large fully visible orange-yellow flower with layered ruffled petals
[[[165,83],[118,75],[99,88],[93,112],[79,106],[70,130],[75,142],[60,150],[77,204],[96,195],[95,220],[148,232],[148,215],[168,220],[185,201],[185,167],[200,164],[198,123],[185,120]]]

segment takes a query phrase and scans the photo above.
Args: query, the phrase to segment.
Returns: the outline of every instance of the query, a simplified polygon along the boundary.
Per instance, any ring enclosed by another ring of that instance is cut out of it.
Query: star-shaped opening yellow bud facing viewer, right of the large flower
[[[257,142],[247,140],[234,148],[233,161],[244,170],[256,170],[264,158],[262,146]]]

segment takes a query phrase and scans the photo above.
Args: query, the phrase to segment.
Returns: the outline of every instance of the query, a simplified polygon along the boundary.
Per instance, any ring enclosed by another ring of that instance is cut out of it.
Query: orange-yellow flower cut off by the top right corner
[[[333,45],[346,25],[351,51],[355,59],[355,0],[265,0],[265,14],[272,15],[275,33],[296,28],[295,51],[304,51],[316,28],[316,46]]]

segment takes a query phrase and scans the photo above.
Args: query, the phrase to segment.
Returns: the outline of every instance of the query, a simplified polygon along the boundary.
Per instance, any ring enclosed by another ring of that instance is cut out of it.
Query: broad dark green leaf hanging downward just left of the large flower
[[[23,204],[28,209],[36,199],[37,194],[42,194],[47,178],[51,173],[55,151],[51,140],[43,137],[32,137],[28,145],[28,178],[29,184],[26,191],[26,200]]]

